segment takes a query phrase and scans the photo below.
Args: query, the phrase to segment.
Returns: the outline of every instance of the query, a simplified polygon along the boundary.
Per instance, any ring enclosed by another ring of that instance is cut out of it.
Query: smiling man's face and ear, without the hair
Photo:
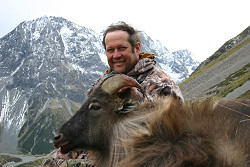
[[[109,32],[105,37],[108,64],[115,73],[126,74],[139,61],[141,45],[138,42],[133,53],[128,37],[129,34],[121,30]]]

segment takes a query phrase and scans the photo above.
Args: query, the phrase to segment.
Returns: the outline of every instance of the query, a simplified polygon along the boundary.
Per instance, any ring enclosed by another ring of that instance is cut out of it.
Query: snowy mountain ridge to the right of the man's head
[[[188,50],[170,52],[158,40],[152,40],[145,32],[141,33],[142,51],[156,55],[157,66],[168,73],[177,83],[187,79],[200,64]]]

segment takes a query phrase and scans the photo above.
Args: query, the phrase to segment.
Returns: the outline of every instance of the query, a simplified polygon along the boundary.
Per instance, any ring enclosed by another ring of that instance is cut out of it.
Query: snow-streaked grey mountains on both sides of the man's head
[[[108,68],[100,34],[64,18],[21,23],[0,39],[0,152],[48,153],[53,132],[80,107]],[[142,51],[177,82],[198,63],[142,33]]]

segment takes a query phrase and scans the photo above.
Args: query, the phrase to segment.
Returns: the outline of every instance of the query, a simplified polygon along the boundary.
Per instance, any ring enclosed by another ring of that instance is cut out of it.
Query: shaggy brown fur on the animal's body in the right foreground
[[[249,165],[250,124],[241,114],[218,110],[211,98],[182,107],[171,98],[157,103],[148,130],[125,140],[130,152],[119,166]]]

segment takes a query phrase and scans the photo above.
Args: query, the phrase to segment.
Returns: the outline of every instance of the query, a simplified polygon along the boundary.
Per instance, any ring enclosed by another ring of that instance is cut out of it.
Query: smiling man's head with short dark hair
[[[126,23],[111,25],[104,32],[103,45],[110,68],[115,73],[128,73],[139,61],[139,31]]]

